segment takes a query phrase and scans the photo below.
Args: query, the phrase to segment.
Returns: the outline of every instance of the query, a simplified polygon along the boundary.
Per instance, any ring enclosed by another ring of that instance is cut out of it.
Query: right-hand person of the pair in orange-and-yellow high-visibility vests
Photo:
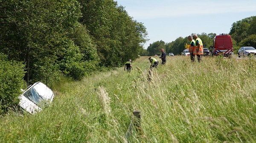
[[[203,42],[200,38],[198,38],[197,34],[193,35],[193,39],[195,39],[195,48],[194,48],[193,54],[197,56],[198,62],[201,62],[202,55],[204,53]]]

